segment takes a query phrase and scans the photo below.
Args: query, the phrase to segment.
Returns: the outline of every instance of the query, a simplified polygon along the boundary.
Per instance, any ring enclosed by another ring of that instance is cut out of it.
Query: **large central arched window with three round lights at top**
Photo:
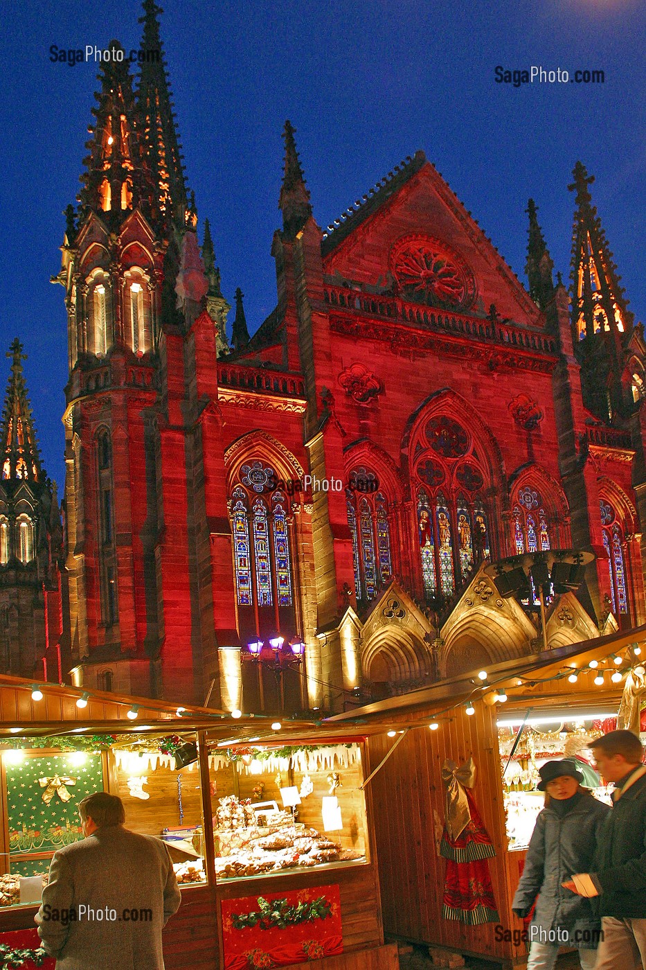
[[[426,598],[453,597],[491,556],[482,468],[478,443],[455,418],[437,414],[425,423],[412,477]]]

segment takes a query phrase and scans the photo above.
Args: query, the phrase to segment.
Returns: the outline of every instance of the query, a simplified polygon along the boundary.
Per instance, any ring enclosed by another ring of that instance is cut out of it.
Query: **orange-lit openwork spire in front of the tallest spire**
[[[118,41],[110,49],[123,51]],[[152,182],[126,57],[105,61],[99,79],[96,123],[88,128],[93,138],[85,143],[90,153],[83,159],[81,220],[92,210],[120,219],[140,205],[150,217]]]

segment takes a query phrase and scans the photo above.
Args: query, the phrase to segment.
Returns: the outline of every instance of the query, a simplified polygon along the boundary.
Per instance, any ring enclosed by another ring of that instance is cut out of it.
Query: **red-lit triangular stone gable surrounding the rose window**
[[[527,290],[423,152],[330,227],[324,271],[368,292],[387,292],[395,282],[393,254],[408,237],[443,244],[470,272],[475,294],[468,312],[483,315],[494,304],[503,319],[542,325]]]

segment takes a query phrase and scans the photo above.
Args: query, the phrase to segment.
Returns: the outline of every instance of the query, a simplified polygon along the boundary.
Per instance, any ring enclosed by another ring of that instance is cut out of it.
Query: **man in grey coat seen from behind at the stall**
[[[162,927],[181,895],[166,847],[123,827],[123,802],[96,792],[79,805],[81,842],[54,854],[36,914],[56,970],[164,970]]]

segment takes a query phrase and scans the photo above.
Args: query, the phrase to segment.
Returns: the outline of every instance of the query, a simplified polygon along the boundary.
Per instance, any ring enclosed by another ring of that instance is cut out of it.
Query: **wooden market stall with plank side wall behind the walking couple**
[[[371,736],[368,764],[388,934],[524,965],[511,900],[542,807],[537,768],[566,752],[588,760],[629,676],[643,679],[645,638],[640,628],[556,648],[333,719],[391,728]]]

